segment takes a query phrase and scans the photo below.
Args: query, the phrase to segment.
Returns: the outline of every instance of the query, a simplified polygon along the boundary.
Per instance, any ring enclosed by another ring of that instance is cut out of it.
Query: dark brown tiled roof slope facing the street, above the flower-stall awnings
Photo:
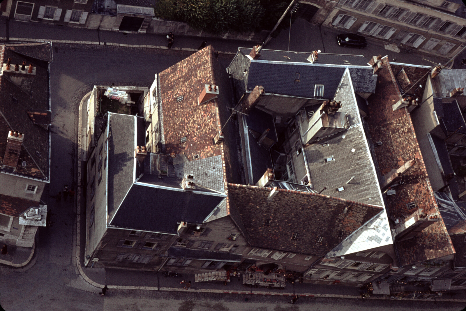
[[[379,214],[380,206],[332,196],[228,183],[231,216],[253,247],[324,256]],[[349,207],[347,213],[343,213]],[[265,221],[270,219],[269,226]],[[342,237],[339,238],[340,231]],[[294,233],[299,233],[296,240]],[[322,243],[316,239],[322,236]]]

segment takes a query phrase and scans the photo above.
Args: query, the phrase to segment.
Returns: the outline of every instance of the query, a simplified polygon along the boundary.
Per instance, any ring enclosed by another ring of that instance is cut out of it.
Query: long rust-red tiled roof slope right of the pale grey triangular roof
[[[397,218],[402,220],[415,211],[409,210],[406,204],[416,200],[416,208],[425,210],[429,215],[436,214],[440,218],[437,223],[420,232],[414,239],[396,242],[400,264],[413,264],[453,254],[454,248],[433,195],[411,116],[406,108],[393,111],[392,105],[402,94],[389,61],[386,57],[382,61],[383,68],[377,72],[376,93],[368,99],[369,114],[367,117],[372,140],[383,143],[374,151],[380,173],[385,175],[392,169],[398,169],[408,160],[415,159],[416,161],[414,166],[404,174],[404,184],[394,188],[396,195],[385,196],[385,207],[392,221]],[[407,68],[405,70],[410,77],[413,72],[422,75],[428,69]],[[410,79],[416,81],[415,78],[410,77]]]

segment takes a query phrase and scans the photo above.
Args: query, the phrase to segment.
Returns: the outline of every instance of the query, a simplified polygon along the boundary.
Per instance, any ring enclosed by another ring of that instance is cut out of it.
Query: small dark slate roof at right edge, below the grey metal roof
[[[441,98],[434,97],[434,110],[440,122],[443,122],[442,128],[448,132],[457,132],[466,134],[466,123],[461,114],[458,101],[443,102]],[[445,135],[448,135],[445,133]]]

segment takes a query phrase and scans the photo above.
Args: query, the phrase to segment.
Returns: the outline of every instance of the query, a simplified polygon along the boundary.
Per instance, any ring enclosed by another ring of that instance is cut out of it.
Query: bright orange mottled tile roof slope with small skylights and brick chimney
[[[208,46],[159,74],[166,153],[184,154],[189,161],[195,155],[207,158],[221,154],[222,144],[213,143],[220,129],[218,99],[198,104],[205,85],[216,84],[212,58],[213,48]],[[178,102],[181,95],[184,100]],[[187,141],[181,143],[185,136]]]

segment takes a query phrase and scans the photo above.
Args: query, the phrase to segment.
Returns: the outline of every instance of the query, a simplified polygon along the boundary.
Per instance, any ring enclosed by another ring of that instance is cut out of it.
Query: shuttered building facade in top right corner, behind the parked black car
[[[392,8],[384,9],[384,5]],[[397,17],[396,9],[405,11],[400,11]],[[445,25],[445,22],[451,24]],[[466,27],[465,19],[415,2],[340,0],[324,25],[436,56],[452,57],[465,46],[466,28],[462,28]]]

